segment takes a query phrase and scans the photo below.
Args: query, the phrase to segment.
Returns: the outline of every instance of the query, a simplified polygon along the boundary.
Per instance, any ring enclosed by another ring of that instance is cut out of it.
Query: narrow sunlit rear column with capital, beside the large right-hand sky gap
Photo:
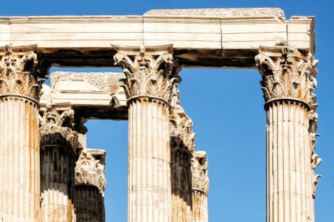
[[[209,177],[207,176],[207,154],[204,151],[193,151],[191,160],[192,185],[192,221],[208,222],[207,193]]]

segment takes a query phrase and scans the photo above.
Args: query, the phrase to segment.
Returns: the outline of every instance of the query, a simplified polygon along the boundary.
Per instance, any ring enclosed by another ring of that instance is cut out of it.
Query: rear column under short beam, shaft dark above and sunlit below
[[[74,164],[78,134],[73,130],[74,111],[49,107],[40,126],[40,219],[75,222]]]

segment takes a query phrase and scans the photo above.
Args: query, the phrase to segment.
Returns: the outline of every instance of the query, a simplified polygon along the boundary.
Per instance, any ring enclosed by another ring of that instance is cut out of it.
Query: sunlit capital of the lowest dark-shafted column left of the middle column
[[[89,184],[100,193],[106,189],[105,151],[83,149],[75,167],[75,184]]]

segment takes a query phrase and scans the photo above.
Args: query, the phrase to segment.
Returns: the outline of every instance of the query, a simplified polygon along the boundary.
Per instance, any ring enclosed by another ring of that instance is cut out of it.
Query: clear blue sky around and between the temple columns
[[[315,15],[321,134],[317,153],[323,159],[317,168],[323,177],[317,191],[316,221],[333,222],[333,1],[1,1],[0,15],[142,15],[160,8],[231,7],[279,7],[287,18]],[[60,69],[51,71],[55,70]],[[99,70],[109,69],[95,69]],[[181,75],[181,102],[194,122],[196,148],[207,151],[209,158],[209,221],[264,222],[265,112],[260,74],[257,70],[184,69]],[[127,122],[90,120],[86,126],[88,147],[107,150],[106,221],[126,221]]]

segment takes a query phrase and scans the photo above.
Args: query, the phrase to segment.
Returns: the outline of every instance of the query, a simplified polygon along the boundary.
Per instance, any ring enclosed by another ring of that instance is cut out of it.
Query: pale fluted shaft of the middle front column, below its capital
[[[129,219],[170,221],[169,111],[166,102],[129,102]]]

